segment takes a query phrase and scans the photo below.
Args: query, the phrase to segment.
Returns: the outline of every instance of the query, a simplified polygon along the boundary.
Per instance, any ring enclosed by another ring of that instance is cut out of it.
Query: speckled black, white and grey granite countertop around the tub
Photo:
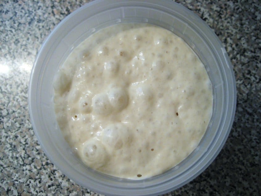
[[[75,184],[40,147],[28,113],[30,72],[40,46],[61,19],[87,1],[0,2],[1,195],[98,195]],[[258,195],[261,131],[261,4],[185,0],[213,28],[234,68],[237,109],[225,146],[193,181],[166,195]]]

